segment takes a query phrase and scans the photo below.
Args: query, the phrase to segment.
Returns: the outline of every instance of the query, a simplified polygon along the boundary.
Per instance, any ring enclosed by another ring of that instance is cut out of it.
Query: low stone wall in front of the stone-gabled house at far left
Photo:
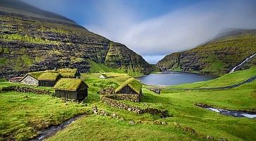
[[[21,87],[21,86],[8,86],[8,87],[2,87],[0,89],[0,92],[8,92],[8,91],[16,91],[16,92],[32,92],[35,94],[49,94],[54,95],[54,93],[49,92],[49,90],[39,90],[34,89],[32,87]]]

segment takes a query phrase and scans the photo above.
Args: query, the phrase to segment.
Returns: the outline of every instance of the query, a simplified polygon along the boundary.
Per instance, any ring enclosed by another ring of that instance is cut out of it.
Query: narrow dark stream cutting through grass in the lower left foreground
[[[44,139],[47,139],[53,135],[56,135],[60,130],[63,130],[67,127],[67,125],[70,125],[74,121],[78,120],[79,118],[82,118],[85,115],[75,116],[74,118],[69,119],[68,121],[65,121],[61,123],[60,125],[51,126],[45,130],[39,131],[39,135],[32,139],[31,141],[42,141]]]

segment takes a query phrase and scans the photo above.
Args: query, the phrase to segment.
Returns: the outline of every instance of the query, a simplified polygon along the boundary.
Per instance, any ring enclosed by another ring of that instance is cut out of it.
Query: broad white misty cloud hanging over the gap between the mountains
[[[250,1],[204,2],[145,21],[137,18],[133,8],[116,1],[97,7],[102,22],[85,27],[126,44],[150,63],[207,42],[225,27],[256,28],[256,6]]]

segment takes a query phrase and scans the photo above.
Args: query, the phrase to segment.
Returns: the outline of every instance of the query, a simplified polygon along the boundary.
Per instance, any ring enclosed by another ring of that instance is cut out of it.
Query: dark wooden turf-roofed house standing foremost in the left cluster
[[[76,78],[61,78],[54,86],[56,97],[83,100],[88,96],[88,85]]]

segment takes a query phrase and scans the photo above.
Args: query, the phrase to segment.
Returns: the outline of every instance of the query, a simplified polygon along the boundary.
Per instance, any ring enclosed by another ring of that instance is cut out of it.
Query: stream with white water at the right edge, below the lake
[[[202,106],[200,106],[200,107],[202,107]],[[215,111],[219,114],[224,114],[226,116],[256,118],[256,113],[254,113],[254,112],[217,109],[217,108],[212,108],[212,107],[209,107],[209,106],[202,107],[202,108],[207,109],[209,111]]]

